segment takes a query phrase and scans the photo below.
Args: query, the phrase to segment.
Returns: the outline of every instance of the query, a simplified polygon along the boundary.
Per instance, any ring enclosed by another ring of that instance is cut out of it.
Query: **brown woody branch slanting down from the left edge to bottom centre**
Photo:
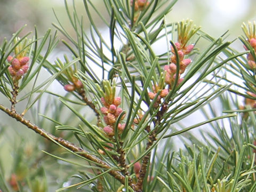
[[[86,159],[89,159],[90,161],[94,162],[99,167],[111,169],[111,167],[106,162],[103,162],[98,157],[91,155],[88,151],[82,149],[81,147],[77,147],[75,144],[70,143],[69,141],[67,141],[65,139],[55,137],[53,134],[46,132],[45,130],[43,130],[40,127],[31,123],[29,120],[25,119],[22,115],[17,114],[16,111],[14,112],[14,111],[4,107],[3,105],[0,105],[0,110],[4,111],[4,113],[6,113],[7,115],[16,119],[18,122],[22,123],[23,125],[27,126],[29,129],[40,134],[42,137],[46,138],[47,140],[50,140],[52,142],[54,142],[54,141],[58,142],[63,147],[66,147],[67,149],[77,153],[78,155],[85,157]],[[111,170],[111,171],[109,171],[109,174],[112,175],[118,181],[120,181],[122,184],[125,183],[125,177],[119,171]]]

